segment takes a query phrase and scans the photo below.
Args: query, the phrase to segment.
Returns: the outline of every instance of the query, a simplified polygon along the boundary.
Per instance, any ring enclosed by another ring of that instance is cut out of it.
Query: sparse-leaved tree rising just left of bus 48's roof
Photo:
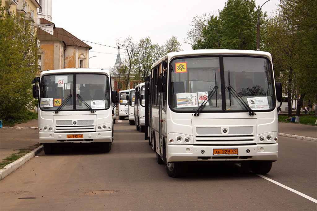
[[[163,56],[163,49],[159,44],[152,44],[150,37],[141,39],[133,59],[134,78],[144,82],[149,75],[151,66]]]

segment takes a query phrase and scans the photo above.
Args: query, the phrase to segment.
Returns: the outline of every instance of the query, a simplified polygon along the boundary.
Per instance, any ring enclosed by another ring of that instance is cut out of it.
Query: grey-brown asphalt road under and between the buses
[[[114,125],[109,153],[65,147],[32,158],[0,181],[0,210],[316,210],[317,142],[279,137],[279,160],[265,175],[235,164],[188,166],[171,178],[144,133]]]

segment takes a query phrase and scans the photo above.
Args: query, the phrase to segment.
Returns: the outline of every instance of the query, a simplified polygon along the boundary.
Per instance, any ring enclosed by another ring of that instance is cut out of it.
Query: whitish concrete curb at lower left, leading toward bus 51
[[[24,155],[22,158],[19,158],[16,161],[4,166],[3,169],[0,169],[0,180],[2,180],[4,177],[11,174],[13,171],[15,171],[17,168],[19,168],[29,159],[33,158],[36,154],[38,154],[42,150],[43,150],[43,146],[39,146],[36,149]]]

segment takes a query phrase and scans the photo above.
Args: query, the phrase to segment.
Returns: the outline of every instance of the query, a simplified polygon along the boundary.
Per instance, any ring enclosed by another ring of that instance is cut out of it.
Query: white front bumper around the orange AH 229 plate
[[[238,149],[238,155],[214,155],[214,149]],[[247,161],[278,159],[278,143],[247,146],[168,145],[167,162]]]

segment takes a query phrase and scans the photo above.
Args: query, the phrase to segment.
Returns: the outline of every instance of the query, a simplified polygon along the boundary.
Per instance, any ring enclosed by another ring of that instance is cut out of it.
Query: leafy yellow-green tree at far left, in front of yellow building
[[[33,26],[0,8],[0,119],[7,123],[29,119],[31,81],[38,71],[39,46]]]

